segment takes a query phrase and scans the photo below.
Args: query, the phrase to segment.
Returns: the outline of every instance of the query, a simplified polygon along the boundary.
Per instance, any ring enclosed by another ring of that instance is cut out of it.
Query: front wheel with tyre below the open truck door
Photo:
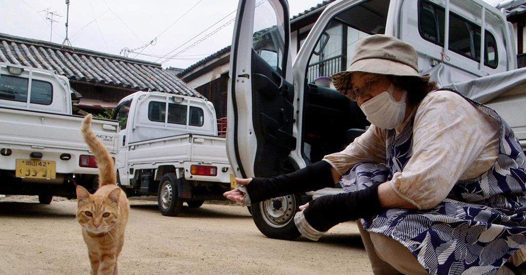
[[[299,201],[299,195],[288,195],[254,203],[250,209],[252,219],[259,231],[269,238],[296,239],[301,235],[294,224]]]

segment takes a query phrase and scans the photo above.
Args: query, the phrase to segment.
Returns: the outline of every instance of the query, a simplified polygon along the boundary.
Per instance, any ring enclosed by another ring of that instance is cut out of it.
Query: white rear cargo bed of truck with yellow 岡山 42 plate
[[[78,156],[89,155],[80,134],[82,120],[82,116],[0,107],[0,148],[13,152],[0,157],[0,169],[15,170],[16,159],[29,159],[31,152],[41,152],[42,160],[56,161],[57,173],[97,174],[97,169],[78,166]],[[116,154],[117,121],[94,119],[92,129],[110,153]],[[62,154],[71,158],[60,160]]]

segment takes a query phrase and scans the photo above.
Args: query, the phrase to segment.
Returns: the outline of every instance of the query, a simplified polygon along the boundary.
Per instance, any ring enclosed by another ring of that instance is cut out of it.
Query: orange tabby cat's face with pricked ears
[[[115,197],[115,193],[120,193],[120,189],[115,190],[103,196],[91,195],[85,188],[77,187],[77,220],[86,231],[99,234],[114,228],[119,215],[118,194]]]

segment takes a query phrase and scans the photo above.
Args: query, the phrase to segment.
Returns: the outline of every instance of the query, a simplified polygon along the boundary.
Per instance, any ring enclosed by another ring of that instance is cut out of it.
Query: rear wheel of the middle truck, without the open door
[[[167,173],[159,182],[157,203],[161,214],[175,217],[183,209],[183,200],[179,198],[177,184],[179,180],[174,173]]]

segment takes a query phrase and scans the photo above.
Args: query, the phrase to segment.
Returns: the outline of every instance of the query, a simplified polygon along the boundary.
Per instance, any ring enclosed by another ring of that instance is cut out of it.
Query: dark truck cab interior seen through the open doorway
[[[389,0],[370,0],[332,18],[312,50],[305,73],[303,156],[315,162],[341,151],[370,125],[356,104],[321,78],[345,70],[356,42],[385,33]]]

